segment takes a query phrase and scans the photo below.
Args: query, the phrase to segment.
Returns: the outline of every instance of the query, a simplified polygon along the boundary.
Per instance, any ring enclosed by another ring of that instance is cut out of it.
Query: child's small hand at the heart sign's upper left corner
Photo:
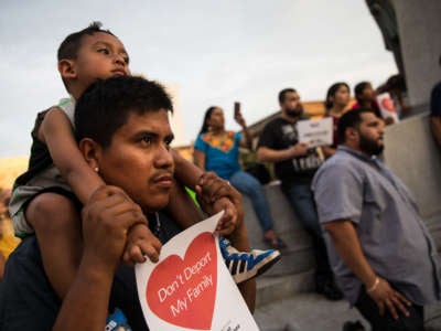
[[[157,263],[161,252],[161,242],[151,233],[147,224],[137,224],[127,234],[127,245],[122,259],[128,265],[146,261],[147,255]]]

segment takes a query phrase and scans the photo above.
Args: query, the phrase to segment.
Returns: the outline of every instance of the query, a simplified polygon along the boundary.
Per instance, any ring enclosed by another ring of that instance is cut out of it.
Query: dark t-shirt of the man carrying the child
[[[165,214],[159,215],[160,226],[154,215],[149,216],[149,226],[165,243],[180,228]],[[36,237],[28,236],[10,255],[0,282],[0,330],[51,330],[60,307],[61,301],[44,273]],[[149,330],[138,299],[133,267],[122,265],[115,275],[109,311],[115,308],[125,313],[133,331]]]

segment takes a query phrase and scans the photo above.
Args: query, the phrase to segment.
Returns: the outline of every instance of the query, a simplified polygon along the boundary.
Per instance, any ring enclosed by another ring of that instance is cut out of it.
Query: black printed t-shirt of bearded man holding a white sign
[[[299,142],[295,124],[282,117],[269,121],[260,136],[258,148],[267,147],[275,150],[284,150]],[[315,148],[309,149],[308,154],[275,163],[275,171],[283,184],[309,184],[315,171],[322,164]]]

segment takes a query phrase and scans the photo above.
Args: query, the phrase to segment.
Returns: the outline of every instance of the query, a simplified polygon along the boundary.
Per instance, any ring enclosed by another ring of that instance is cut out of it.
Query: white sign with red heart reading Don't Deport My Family
[[[136,266],[150,330],[259,330],[213,236],[222,213],[168,242],[157,264]]]

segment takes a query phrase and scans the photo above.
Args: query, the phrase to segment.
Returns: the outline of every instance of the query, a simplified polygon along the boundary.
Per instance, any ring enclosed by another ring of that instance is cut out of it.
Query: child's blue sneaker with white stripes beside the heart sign
[[[280,259],[280,252],[277,249],[239,252],[226,238],[219,238],[219,246],[225,264],[236,284],[263,274]]]

